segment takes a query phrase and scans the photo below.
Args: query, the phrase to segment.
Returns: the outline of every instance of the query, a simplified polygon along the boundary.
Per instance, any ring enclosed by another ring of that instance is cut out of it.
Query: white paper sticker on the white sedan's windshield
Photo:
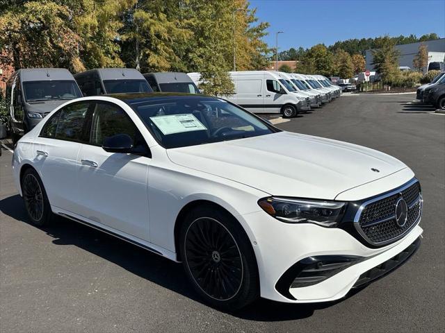
[[[193,114],[172,114],[169,116],[150,117],[163,135],[207,130]]]

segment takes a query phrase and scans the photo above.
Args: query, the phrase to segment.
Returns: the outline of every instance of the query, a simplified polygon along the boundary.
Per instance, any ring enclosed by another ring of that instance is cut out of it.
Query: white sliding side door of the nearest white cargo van
[[[261,78],[236,80],[236,104],[250,112],[264,112],[263,80]]]

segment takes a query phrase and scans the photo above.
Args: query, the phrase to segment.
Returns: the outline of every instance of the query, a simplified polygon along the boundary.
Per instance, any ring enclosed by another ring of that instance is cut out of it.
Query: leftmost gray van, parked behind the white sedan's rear
[[[70,99],[82,97],[74,77],[63,68],[19,69],[6,83],[13,143],[49,112]]]

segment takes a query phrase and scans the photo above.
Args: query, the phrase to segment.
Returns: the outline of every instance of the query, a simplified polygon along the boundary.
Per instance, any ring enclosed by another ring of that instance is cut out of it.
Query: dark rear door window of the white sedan
[[[88,108],[95,103],[75,103],[65,106],[60,110],[60,117],[56,128],[56,139],[88,142],[88,137],[84,130],[84,123]]]

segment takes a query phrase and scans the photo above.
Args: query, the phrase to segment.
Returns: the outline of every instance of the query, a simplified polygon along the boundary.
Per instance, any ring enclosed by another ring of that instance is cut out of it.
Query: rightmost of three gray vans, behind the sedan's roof
[[[165,71],[163,73],[147,73],[143,76],[154,92],[201,93],[193,80],[185,73]]]

